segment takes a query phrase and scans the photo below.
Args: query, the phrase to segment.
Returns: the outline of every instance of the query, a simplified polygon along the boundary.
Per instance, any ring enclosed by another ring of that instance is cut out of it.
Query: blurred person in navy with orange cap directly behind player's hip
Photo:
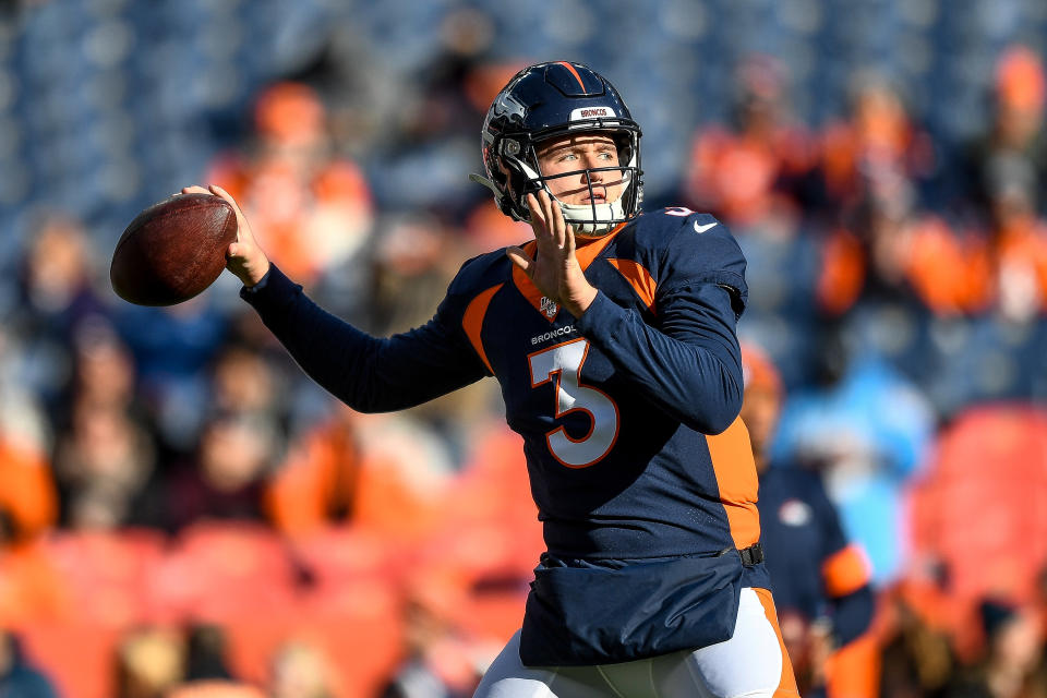
[[[760,538],[774,580],[782,638],[804,696],[872,698],[876,648],[867,634],[874,595],[864,552],[851,543],[818,472],[769,461],[783,399],[778,371],[742,348],[742,419],[760,477]]]

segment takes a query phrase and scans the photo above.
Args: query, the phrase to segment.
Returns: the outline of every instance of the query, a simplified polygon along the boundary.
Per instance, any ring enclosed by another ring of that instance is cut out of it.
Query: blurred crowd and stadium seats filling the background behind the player
[[[4,8],[0,695],[470,695],[542,550],[493,382],[357,414],[229,275],[144,309],[107,265],[218,183],[323,305],[420,324],[529,238],[466,176],[505,80],[564,58],[643,128],[646,207],[746,252],[772,467],[871,565],[871,679],[837,695],[1047,696],[1042,0]]]

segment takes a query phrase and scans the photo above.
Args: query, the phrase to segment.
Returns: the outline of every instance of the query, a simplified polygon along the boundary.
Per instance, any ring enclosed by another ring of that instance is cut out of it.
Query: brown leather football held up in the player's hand
[[[109,265],[117,296],[136,305],[174,305],[210,286],[237,239],[232,206],[213,194],[180,194],[139,214]]]

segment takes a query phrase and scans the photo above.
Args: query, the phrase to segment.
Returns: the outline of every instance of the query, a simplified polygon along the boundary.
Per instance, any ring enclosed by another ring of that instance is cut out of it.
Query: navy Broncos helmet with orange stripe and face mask
[[[538,161],[537,145],[568,133],[597,132],[614,139],[616,167],[573,170],[546,177]],[[640,128],[614,86],[582,63],[555,61],[525,68],[508,82],[491,104],[483,121],[482,149],[486,177],[470,179],[488,186],[502,213],[515,220],[529,220],[526,198],[546,182],[586,174],[590,182],[588,204],[561,203],[564,218],[575,233],[600,237],[640,213],[643,171],[640,169]],[[595,203],[590,172],[621,173],[622,194],[613,202]],[[550,195],[552,193],[550,192]]]

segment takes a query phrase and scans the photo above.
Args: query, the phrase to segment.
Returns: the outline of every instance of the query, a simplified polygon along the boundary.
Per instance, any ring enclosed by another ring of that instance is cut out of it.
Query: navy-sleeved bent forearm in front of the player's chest
[[[714,317],[721,313],[693,314],[679,337],[671,336],[601,293],[577,326],[653,402],[691,429],[718,434],[742,409],[737,344]]]

